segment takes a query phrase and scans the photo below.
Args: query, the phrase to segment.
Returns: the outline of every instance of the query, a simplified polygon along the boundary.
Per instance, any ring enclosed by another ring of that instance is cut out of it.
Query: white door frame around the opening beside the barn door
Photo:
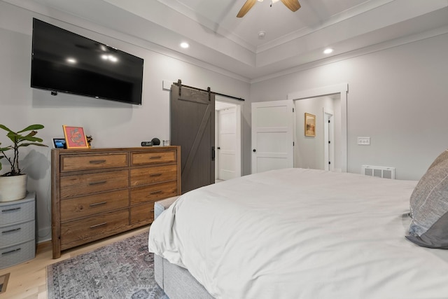
[[[228,97],[223,97],[221,95],[215,95],[215,113],[217,114],[218,109],[216,109],[216,102],[221,102],[221,103],[225,103],[225,104],[230,104],[231,106],[235,106],[235,126],[236,126],[236,134],[235,134],[235,177],[239,177],[241,176],[241,169],[243,167],[242,164],[242,127],[241,127],[241,116],[243,113],[243,105],[241,105],[240,102],[234,101]],[[218,121],[217,118],[215,118],[215,142],[216,142],[216,148],[218,148],[218,135],[219,135],[219,127],[216,124],[216,122]],[[219,159],[219,155],[216,155],[215,158],[215,178],[218,179],[218,165],[220,165],[220,161]]]

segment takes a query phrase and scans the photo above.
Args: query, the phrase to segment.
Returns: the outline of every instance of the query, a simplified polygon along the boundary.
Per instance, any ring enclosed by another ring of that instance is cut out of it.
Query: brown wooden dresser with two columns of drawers
[[[179,146],[53,149],[52,251],[147,225],[154,202],[181,195]]]

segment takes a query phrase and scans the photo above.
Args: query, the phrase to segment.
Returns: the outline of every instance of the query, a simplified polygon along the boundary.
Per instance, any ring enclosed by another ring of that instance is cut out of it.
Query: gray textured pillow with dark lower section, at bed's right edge
[[[430,165],[410,197],[409,241],[419,246],[448,249],[448,152]]]

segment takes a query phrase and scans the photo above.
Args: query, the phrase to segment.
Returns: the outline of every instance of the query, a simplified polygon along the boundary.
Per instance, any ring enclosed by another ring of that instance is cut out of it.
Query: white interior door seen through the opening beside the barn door
[[[218,179],[236,177],[237,121],[235,107],[218,111]]]

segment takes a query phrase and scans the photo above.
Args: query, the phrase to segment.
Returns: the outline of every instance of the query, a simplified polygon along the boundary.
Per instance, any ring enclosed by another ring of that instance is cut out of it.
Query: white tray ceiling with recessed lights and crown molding
[[[448,27],[448,0],[300,0],[295,13],[264,0],[236,18],[245,1],[34,0],[247,81]]]

